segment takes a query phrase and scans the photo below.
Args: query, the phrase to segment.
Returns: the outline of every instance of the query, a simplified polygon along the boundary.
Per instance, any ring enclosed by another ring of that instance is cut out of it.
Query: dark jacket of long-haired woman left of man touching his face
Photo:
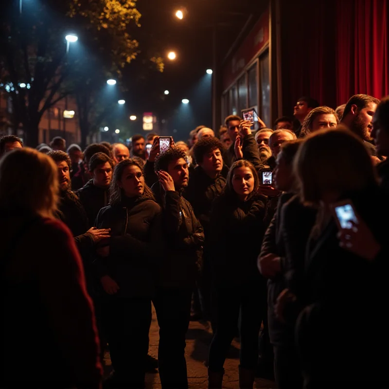
[[[162,256],[159,205],[144,195],[103,208],[97,228],[110,228],[110,255],[94,263],[98,277],[109,275],[119,285],[116,297],[151,297]]]

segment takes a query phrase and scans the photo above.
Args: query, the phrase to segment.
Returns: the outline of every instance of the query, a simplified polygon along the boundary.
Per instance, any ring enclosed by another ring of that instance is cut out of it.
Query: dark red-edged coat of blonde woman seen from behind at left
[[[0,387],[97,389],[99,341],[70,230],[41,217],[26,229],[32,217],[16,212],[0,218]]]

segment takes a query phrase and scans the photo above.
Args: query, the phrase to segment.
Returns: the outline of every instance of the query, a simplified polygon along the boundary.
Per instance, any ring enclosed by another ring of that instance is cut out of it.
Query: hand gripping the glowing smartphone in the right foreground
[[[339,246],[372,261],[381,250],[381,245],[376,241],[371,230],[366,223],[359,217],[358,223],[353,220],[351,229],[342,229],[337,233]]]

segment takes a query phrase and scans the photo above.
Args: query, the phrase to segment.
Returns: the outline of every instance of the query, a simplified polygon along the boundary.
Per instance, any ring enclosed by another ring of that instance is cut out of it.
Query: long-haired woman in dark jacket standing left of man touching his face
[[[144,183],[139,162],[124,159],[115,166],[110,205],[96,227],[111,229],[98,250],[96,271],[104,289],[103,322],[114,368],[114,387],[144,388],[151,323],[154,264],[158,258],[161,209]]]

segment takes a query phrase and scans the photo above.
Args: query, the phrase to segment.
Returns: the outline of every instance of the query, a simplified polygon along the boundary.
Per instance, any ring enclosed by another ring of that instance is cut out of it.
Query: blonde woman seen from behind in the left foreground
[[[0,386],[99,388],[94,313],[71,232],[54,219],[58,172],[23,148],[0,160]]]

